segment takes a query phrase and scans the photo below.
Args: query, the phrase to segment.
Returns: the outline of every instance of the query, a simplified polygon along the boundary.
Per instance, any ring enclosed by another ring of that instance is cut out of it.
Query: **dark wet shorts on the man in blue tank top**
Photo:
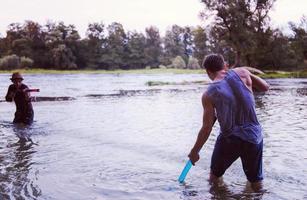
[[[247,180],[261,181],[262,149],[263,141],[253,144],[236,136],[218,137],[211,158],[211,173],[217,177],[223,176],[228,167],[240,157]]]

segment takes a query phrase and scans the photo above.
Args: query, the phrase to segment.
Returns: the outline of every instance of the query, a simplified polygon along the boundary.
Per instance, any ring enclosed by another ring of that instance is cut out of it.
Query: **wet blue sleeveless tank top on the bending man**
[[[223,80],[211,83],[207,95],[220,124],[219,137],[234,135],[254,144],[262,141],[254,95],[236,72],[229,70]]]

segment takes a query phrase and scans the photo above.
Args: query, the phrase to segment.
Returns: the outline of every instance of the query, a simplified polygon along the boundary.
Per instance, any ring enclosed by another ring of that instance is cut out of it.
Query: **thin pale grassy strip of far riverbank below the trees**
[[[15,69],[0,70],[0,74],[11,74],[19,71],[23,74],[205,74],[203,69],[131,69],[131,70],[53,70],[53,69]],[[307,78],[304,71],[264,71],[259,76],[262,78]]]

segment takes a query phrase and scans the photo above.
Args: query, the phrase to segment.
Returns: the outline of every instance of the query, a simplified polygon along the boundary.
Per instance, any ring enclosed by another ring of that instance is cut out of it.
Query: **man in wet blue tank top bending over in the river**
[[[255,112],[253,89],[267,91],[269,85],[244,68],[228,70],[224,58],[218,54],[206,56],[203,67],[213,82],[202,96],[203,125],[189,158],[193,164],[199,160],[199,151],[217,119],[220,134],[211,158],[210,181],[219,180],[240,157],[252,188],[259,190],[263,179],[263,136]]]

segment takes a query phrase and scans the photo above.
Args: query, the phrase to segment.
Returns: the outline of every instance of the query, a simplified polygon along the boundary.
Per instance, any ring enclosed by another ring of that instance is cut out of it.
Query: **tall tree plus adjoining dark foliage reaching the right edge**
[[[210,43],[234,66],[293,69],[307,60],[307,21],[290,23],[293,35],[270,26],[269,11],[275,0],[202,0],[202,16],[212,20]]]

